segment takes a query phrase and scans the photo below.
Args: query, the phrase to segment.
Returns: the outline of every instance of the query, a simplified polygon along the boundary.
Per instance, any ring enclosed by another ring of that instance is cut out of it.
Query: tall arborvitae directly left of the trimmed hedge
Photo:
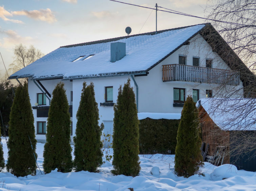
[[[114,105],[112,173],[137,176],[139,162],[139,120],[130,79],[120,86]]]

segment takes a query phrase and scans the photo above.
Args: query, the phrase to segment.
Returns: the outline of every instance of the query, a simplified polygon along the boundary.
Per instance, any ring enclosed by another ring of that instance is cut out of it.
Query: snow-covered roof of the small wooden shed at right
[[[255,98],[203,98],[196,105],[222,130],[256,130]]]

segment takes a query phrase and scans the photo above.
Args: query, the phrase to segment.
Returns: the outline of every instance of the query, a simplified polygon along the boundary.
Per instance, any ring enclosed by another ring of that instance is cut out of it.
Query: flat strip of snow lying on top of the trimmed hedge
[[[181,113],[138,113],[139,120],[147,117],[151,119],[180,119]]]

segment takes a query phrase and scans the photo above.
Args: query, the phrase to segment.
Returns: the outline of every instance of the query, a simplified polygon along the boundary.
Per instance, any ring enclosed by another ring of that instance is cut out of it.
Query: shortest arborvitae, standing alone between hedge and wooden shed
[[[199,172],[203,165],[199,136],[198,110],[191,96],[185,101],[177,134],[175,171],[178,176],[188,178]]]

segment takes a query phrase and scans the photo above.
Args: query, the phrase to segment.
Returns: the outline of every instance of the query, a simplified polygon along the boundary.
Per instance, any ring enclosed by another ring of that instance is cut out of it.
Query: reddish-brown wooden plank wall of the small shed
[[[230,163],[229,156],[229,142],[230,133],[229,131],[221,130],[210,118],[208,113],[203,109],[202,106],[199,107],[199,117],[202,133],[202,141],[209,143],[208,154],[213,155],[217,146],[227,146],[227,153],[225,153],[223,164]]]

